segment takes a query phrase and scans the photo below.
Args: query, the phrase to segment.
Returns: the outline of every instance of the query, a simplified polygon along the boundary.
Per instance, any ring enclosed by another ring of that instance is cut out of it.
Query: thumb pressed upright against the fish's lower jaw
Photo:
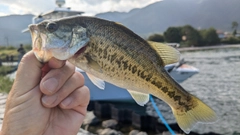
[[[41,80],[42,67],[43,64],[37,60],[33,51],[25,54],[19,63],[11,92],[22,95],[36,87]]]

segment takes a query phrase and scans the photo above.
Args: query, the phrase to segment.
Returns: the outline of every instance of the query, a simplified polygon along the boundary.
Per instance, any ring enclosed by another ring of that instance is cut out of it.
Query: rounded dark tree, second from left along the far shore
[[[164,32],[164,38],[166,42],[169,43],[179,43],[182,40],[181,28],[169,27]]]

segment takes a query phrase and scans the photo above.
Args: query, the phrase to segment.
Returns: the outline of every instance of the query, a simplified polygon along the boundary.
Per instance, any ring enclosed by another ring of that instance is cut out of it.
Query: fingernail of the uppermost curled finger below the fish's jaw
[[[43,87],[48,90],[50,93],[53,93],[58,86],[58,81],[55,78],[47,79],[45,82],[43,82]]]

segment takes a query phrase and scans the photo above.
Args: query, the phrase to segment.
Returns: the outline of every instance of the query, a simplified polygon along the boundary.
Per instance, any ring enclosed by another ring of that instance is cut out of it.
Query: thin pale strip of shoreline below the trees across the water
[[[189,52],[189,51],[204,51],[204,50],[225,49],[225,48],[240,48],[240,44],[215,45],[215,46],[204,46],[204,47],[184,47],[184,48],[177,48],[177,49],[180,52]]]

